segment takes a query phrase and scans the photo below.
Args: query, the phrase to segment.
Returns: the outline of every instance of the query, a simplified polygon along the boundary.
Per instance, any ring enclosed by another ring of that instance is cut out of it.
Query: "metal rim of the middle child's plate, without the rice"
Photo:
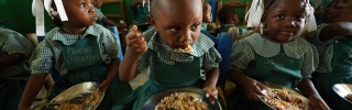
[[[211,105],[209,98],[206,98],[206,91],[199,88],[186,87],[186,88],[172,88],[164,91],[161,91],[154,96],[152,96],[143,106],[142,110],[155,110],[156,105],[167,96],[172,94],[187,94],[191,95],[196,98],[199,98],[204,102],[206,102],[209,107],[209,110],[222,110],[220,102],[217,100],[213,105]]]

